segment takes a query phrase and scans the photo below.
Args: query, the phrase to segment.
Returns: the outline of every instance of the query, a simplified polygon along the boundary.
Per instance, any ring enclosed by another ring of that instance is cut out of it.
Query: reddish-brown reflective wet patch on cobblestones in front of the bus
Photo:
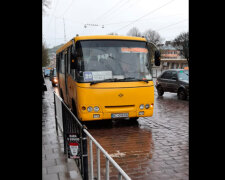
[[[88,131],[119,164],[119,166],[135,179],[135,173],[149,173],[152,158],[152,133],[141,129],[137,121],[97,121],[86,123]],[[96,172],[96,147],[93,145],[94,170]],[[89,150],[88,150],[89,151]],[[105,173],[105,157],[101,153],[102,178]],[[141,172],[140,172],[141,171]],[[110,165],[110,178],[117,178],[117,170]]]

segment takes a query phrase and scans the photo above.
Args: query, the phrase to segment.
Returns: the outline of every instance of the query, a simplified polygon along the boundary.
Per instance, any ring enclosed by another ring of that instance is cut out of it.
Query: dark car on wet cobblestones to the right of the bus
[[[179,99],[189,96],[189,71],[184,69],[169,69],[164,71],[156,80],[159,96],[164,92],[177,93]]]

